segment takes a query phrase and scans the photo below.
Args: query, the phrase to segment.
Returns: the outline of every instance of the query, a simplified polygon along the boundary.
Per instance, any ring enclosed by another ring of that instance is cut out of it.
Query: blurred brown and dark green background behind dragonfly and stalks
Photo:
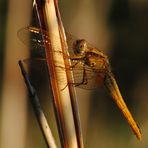
[[[86,148],[148,147],[148,1],[59,0],[65,29],[106,52],[130,111],[142,131],[138,141],[102,86],[77,88]],[[0,1],[0,147],[46,147],[17,61],[29,56],[18,39],[20,28],[31,20],[29,0]],[[58,142],[47,77],[33,71],[42,107]],[[59,144],[58,144],[58,147]]]

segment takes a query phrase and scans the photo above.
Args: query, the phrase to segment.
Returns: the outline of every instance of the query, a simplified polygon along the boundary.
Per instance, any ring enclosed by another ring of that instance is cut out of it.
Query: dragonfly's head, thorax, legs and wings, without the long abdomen
[[[34,63],[35,65],[43,62],[46,63],[44,44],[50,44],[47,34],[48,33],[44,30],[30,26],[18,31],[18,37],[21,41],[25,44],[28,43],[28,45],[31,45],[30,49],[34,60],[25,59],[24,61],[26,63],[30,61],[30,63]],[[31,38],[28,38],[29,36]],[[42,36],[44,40],[42,39]],[[71,66],[66,65],[65,70],[73,72],[74,82],[68,83],[83,89],[95,89],[98,87],[99,83],[101,83],[104,74],[110,69],[108,57],[103,53],[103,51],[93,47],[93,45],[89,44],[86,40],[78,40],[69,33],[66,33],[66,36],[68,38],[68,51],[70,55],[68,56],[66,52],[54,52],[63,54],[64,58],[68,58],[71,61]],[[55,62],[58,63],[58,61]],[[60,63],[56,65],[60,65]],[[59,68],[59,72],[64,70],[61,66],[57,67]],[[37,69],[37,66],[35,68]],[[60,81],[63,83],[65,80],[61,79]]]

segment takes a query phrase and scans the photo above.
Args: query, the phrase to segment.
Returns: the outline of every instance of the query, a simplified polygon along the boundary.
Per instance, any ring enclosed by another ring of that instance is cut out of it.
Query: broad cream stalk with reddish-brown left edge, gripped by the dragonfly
[[[40,20],[40,26],[42,29],[47,30],[47,35],[50,40],[49,42],[51,43],[50,45],[45,43],[45,52],[54,97],[54,107],[61,145],[64,148],[77,148],[78,143],[70,101],[69,87],[62,90],[65,85],[68,84],[67,75],[64,70],[59,73],[57,68],[59,63],[60,66],[65,67],[65,63],[63,55],[59,54],[63,52],[64,49],[62,49],[59,35],[55,1],[36,0],[36,8]],[[64,79],[64,83],[59,82],[61,79]]]

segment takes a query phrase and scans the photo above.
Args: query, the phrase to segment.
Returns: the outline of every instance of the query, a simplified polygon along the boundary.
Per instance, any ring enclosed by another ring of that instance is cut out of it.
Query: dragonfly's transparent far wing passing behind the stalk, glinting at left
[[[30,47],[32,52],[34,52],[34,55],[37,55],[38,57],[45,57],[45,43],[50,44],[50,39],[48,36],[48,32],[39,29],[36,27],[24,27],[21,28],[18,33],[18,38],[27,46]],[[56,35],[54,35],[55,40],[56,40]],[[68,43],[68,48],[69,52],[73,54],[73,43],[76,40],[76,38],[69,33],[66,34],[67,37],[67,43]],[[44,38],[44,39],[43,39]]]

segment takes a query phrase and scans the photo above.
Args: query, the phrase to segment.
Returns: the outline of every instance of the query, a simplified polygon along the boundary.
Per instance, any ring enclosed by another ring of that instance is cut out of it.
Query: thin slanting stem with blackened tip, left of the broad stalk
[[[54,137],[52,136],[52,133],[51,133],[51,130],[50,130],[49,125],[47,123],[46,117],[45,117],[43,110],[41,108],[37,93],[29,80],[29,76],[26,73],[22,62],[19,61],[18,64],[21,69],[22,75],[24,77],[25,84],[27,86],[29,96],[30,96],[30,102],[31,102],[31,105],[32,105],[33,110],[35,112],[37,121],[38,121],[39,126],[41,128],[41,131],[42,131],[42,134],[43,134],[44,139],[46,141],[46,144],[48,147],[56,148],[57,146],[55,144]]]

